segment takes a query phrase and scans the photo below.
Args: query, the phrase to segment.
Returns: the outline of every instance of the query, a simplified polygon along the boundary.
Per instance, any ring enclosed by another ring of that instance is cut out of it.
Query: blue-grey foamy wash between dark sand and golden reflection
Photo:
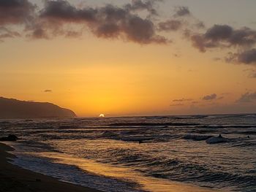
[[[56,177],[69,183],[94,188],[99,191],[116,192],[143,192],[138,183],[129,180],[118,180],[111,177],[103,177],[89,172],[83,172],[78,166],[68,164],[58,164],[50,161],[50,158],[38,158],[31,155],[18,155],[18,158],[12,159],[12,164],[29,169],[33,172]],[[50,169],[49,169],[50,168]]]

